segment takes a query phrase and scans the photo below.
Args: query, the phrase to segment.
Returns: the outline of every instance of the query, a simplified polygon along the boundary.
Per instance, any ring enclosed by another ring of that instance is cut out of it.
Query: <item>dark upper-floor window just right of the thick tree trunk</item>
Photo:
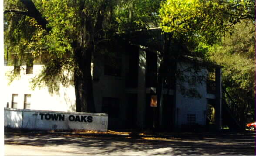
[[[104,74],[110,76],[121,76],[121,57],[117,53],[108,53],[104,56]]]

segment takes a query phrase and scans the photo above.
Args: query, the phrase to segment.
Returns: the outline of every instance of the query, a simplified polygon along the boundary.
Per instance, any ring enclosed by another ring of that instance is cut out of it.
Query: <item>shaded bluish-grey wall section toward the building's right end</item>
[[[177,68],[184,70],[189,67],[188,63],[178,63]],[[205,75],[207,73],[206,69],[201,70],[200,75]],[[192,75],[192,72],[185,72],[184,74],[187,76]],[[196,90],[201,94],[202,98],[196,97],[187,97],[182,94],[179,89],[179,84],[177,84],[176,91],[176,120],[175,123],[177,127],[181,127],[183,124],[188,124],[187,122],[187,114],[195,114],[195,123],[199,125],[205,125],[205,117],[207,110],[207,91],[206,91],[206,83],[202,81],[202,84],[190,85],[187,82],[182,83],[182,85],[186,88],[196,88]]]

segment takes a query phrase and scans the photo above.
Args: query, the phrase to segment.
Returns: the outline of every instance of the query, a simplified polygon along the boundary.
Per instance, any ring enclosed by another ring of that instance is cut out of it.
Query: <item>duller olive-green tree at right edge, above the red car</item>
[[[223,65],[223,85],[240,107],[253,108],[255,101],[255,31],[251,21],[234,26],[232,35],[209,48],[209,59]],[[254,109],[252,109],[254,110]]]

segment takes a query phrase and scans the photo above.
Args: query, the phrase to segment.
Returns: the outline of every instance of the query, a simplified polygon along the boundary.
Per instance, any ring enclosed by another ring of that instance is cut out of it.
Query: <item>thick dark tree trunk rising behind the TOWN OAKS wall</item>
[[[93,88],[91,80],[91,55],[93,45],[87,49],[78,48],[75,51],[78,68],[74,73],[77,112],[95,112]]]

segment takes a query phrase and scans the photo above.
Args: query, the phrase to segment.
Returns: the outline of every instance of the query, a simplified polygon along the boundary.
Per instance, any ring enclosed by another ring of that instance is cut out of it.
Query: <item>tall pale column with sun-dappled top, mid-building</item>
[[[137,122],[140,128],[145,127],[145,110],[146,110],[146,52],[139,49],[138,54],[138,107]]]

